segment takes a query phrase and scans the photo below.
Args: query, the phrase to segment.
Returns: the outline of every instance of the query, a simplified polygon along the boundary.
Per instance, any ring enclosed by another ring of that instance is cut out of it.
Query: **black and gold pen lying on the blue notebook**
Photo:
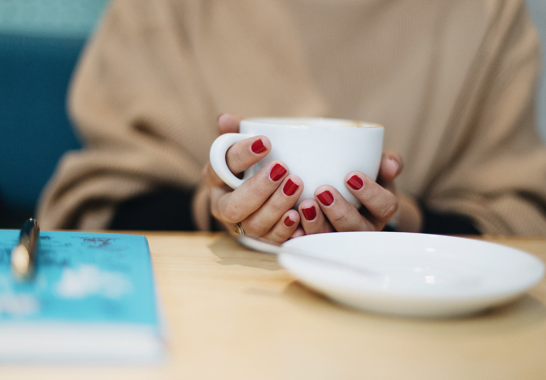
[[[35,219],[29,219],[21,228],[19,244],[11,250],[11,271],[17,280],[33,278],[36,268],[36,249],[40,227]]]

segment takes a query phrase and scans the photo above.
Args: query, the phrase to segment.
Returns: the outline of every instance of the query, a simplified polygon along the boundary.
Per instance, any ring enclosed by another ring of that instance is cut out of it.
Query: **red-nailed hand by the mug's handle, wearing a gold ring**
[[[218,118],[220,133],[239,132],[239,122],[238,116],[221,114]],[[271,142],[267,137],[251,137],[229,148],[225,161],[229,170],[238,176],[270,151]],[[288,174],[284,162],[271,161],[235,190],[218,177],[210,162],[203,176],[210,190],[212,215],[229,231],[240,222],[246,234],[278,243],[303,234],[302,228],[298,228],[300,215],[292,207],[298,201],[304,183],[300,177]]]

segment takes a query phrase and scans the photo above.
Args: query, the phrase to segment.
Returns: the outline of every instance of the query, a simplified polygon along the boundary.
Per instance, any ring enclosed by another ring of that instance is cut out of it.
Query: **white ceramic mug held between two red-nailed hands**
[[[240,133],[219,136],[210,148],[212,168],[231,188],[238,188],[273,160],[288,165],[290,174],[304,182],[304,191],[294,206],[314,199],[321,185],[334,186],[355,207],[360,202],[346,188],[343,179],[351,171],[377,177],[383,150],[383,127],[378,124],[328,118],[254,118],[242,120]],[[225,153],[236,142],[253,136],[266,136],[271,152],[239,179],[225,163]]]

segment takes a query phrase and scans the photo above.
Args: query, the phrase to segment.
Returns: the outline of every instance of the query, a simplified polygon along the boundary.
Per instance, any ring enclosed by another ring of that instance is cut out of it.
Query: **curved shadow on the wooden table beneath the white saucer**
[[[414,327],[426,334],[426,330],[455,334],[490,335],[526,329],[544,322],[546,307],[537,298],[525,293],[511,303],[494,307],[484,312],[462,318],[410,318],[385,316],[365,312],[336,304],[324,295],[314,292],[298,281],[292,281],[284,288],[284,297],[298,303],[302,307],[320,310],[322,313],[333,313],[337,318],[347,318],[351,321],[387,325],[390,328]]]

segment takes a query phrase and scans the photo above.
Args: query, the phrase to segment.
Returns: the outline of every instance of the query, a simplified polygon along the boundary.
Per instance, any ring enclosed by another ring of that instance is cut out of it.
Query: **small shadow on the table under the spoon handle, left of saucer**
[[[277,257],[270,254],[251,251],[241,246],[230,236],[223,236],[209,245],[212,253],[222,260],[218,264],[239,264],[245,267],[261,268],[266,270],[278,270],[281,266],[277,263]]]

